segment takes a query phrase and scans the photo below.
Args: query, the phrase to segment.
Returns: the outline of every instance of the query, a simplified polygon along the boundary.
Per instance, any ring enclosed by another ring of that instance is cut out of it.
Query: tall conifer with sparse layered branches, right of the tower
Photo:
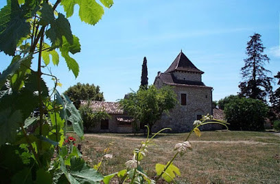
[[[269,58],[264,55],[266,47],[261,43],[261,35],[254,34],[250,36],[247,42],[246,54],[248,57],[244,60],[245,66],[241,68],[242,78],[240,82],[240,96],[259,99],[266,102],[266,98],[272,93],[272,77],[268,77],[269,70],[264,65],[269,63]]]

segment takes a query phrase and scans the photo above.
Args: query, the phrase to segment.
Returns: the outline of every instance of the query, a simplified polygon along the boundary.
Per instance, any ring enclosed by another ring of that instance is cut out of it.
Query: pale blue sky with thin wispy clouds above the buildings
[[[160,1],[115,0],[95,26],[86,25],[75,14],[71,29],[80,38],[81,53],[73,55],[80,65],[75,79],[65,61],[49,65],[60,79],[64,92],[75,83],[100,86],[106,101],[123,98],[141,81],[143,57],[148,60],[149,84],[158,71],[164,72],[180,49],[197,68],[204,71],[202,81],[213,87],[213,100],[237,94],[240,68],[246,58],[249,36],[261,34],[270,57],[266,68],[276,75],[280,70],[280,1]],[[5,1],[0,2],[0,8]],[[60,7],[60,9],[62,8]],[[0,71],[11,58],[0,53]],[[53,83],[44,78],[48,86]],[[276,84],[275,84],[276,85]],[[278,86],[275,86],[278,88]]]

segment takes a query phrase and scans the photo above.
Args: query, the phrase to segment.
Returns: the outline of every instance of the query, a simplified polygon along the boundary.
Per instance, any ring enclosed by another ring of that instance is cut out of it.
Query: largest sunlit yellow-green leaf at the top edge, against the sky
[[[98,23],[104,14],[102,5],[96,3],[95,0],[80,0],[79,5],[79,16],[81,21],[90,25]]]

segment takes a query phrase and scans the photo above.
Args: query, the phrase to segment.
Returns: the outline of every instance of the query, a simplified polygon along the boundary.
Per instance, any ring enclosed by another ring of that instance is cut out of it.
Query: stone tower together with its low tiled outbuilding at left
[[[159,72],[154,80],[154,86],[161,88],[164,85],[172,86],[178,97],[178,105],[163,114],[161,120],[154,124],[153,130],[159,131],[170,127],[172,132],[186,132],[193,127],[194,120],[199,120],[203,115],[213,114],[212,91],[213,88],[205,86],[202,82],[202,70],[199,70],[180,51],[174,62],[164,73]],[[83,101],[82,104],[85,104]],[[105,110],[112,118],[102,120],[96,127],[89,131],[130,133],[133,118],[129,117],[119,103],[91,101],[93,111]],[[215,114],[213,114],[215,118]],[[138,122],[139,125],[139,122]],[[220,129],[218,125],[202,126],[200,129]]]

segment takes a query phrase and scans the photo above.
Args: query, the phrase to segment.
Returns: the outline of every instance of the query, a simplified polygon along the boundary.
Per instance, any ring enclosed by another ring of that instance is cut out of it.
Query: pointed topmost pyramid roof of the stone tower
[[[165,71],[165,73],[171,73],[174,71],[184,71],[184,72],[193,72],[193,73],[201,73],[202,70],[199,70],[194,66],[194,64],[187,58],[187,56],[180,51],[174,62],[170,65],[170,67]]]

